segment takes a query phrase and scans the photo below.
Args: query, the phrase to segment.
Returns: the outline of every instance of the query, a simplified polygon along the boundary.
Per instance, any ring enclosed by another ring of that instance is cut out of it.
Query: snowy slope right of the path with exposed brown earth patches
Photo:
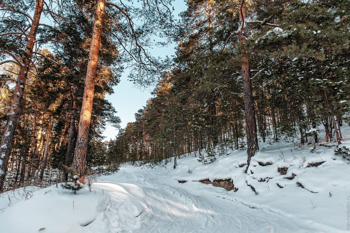
[[[350,127],[341,129],[344,138],[341,146],[349,147]],[[173,162],[169,162],[163,165],[166,168],[155,167],[154,172],[175,181],[188,181],[179,185],[194,192],[207,192],[251,208],[278,213],[303,226],[305,232],[315,232],[315,229],[345,232],[350,163],[335,155],[335,147],[329,145],[260,142],[260,151],[252,157],[247,174],[244,173],[246,165],[242,167],[246,163],[246,152],[230,150],[217,155],[216,161],[207,165],[198,162],[191,153],[177,160],[176,169],[171,169]],[[202,153],[205,154],[204,150]],[[238,190],[227,191],[197,182],[204,179],[231,179]]]

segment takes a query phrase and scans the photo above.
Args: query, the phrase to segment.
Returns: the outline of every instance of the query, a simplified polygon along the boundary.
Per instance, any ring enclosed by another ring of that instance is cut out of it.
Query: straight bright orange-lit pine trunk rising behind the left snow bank
[[[93,25],[89,62],[87,63],[83,105],[80,111],[78,138],[73,159],[73,171],[79,174],[83,174],[85,172],[87,139],[89,138],[96,67],[98,62],[98,51],[102,35],[102,16],[104,14],[105,5],[106,0],[98,0],[96,3],[95,21]],[[83,183],[84,176],[82,176],[79,181]]]

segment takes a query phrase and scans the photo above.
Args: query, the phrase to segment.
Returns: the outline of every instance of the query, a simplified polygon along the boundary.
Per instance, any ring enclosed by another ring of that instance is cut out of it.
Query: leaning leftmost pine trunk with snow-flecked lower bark
[[[24,89],[26,86],[26,79],[30,66],[30,57],[33,54],[34,41],[36,40],[36,33],[38,30],[39,20],[43,9],[43,0],[36,1],[35,13],[33,21],[31,21],[30,31],[27,37],[26,50],[21,58],[20,70],[16,82],[16,87],[13,93],[13,99],[10,111],[7,117],[5,130],[0,144],[0,191],[2,191],[3,183],[7,172],[7,164],[12,148],[12,141],[16,124],[19,117],[19,109],[23,98]]]

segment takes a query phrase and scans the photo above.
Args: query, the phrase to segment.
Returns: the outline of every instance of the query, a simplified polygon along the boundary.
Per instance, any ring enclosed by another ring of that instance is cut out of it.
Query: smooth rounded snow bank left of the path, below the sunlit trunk
[[[1,232],[113,232],[140,228],[147,209],[142,187],[129,185],[137,195],[116,183],[87,185],[76,195],[59,185],[26,187],[0,198]]]

